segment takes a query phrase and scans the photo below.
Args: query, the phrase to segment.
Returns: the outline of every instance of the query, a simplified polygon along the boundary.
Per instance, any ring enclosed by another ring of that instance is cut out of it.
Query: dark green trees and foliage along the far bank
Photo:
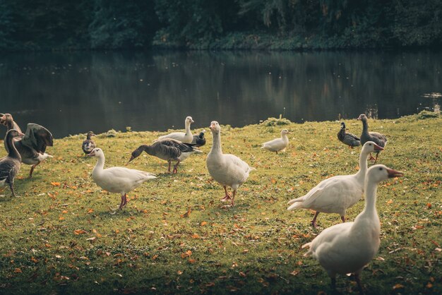
[[[441,18],[440,0],[0,0],[0,49],[429,47]]]

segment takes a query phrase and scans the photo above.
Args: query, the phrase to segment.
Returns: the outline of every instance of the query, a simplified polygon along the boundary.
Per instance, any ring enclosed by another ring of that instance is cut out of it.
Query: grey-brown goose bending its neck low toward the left
[[[152,145],[140,145],[131,153],[131,159],[129,159],[129,162],[139,157],[143,151],[148,153],[148,155],[165,159],[167,162],[169,162],[169,169],[167,170],[169,173],[172,160],[177,161],[177,163],[174,165],[174,170],[172,172],[173,174],[178,172],[178,165],[180,162],[184,161],[187,159],[187,157],[194,153],[202,153],[201,150],[195,148],[191,143],[181,143],[179,140],[165,138],[162,140],[157,140]]]

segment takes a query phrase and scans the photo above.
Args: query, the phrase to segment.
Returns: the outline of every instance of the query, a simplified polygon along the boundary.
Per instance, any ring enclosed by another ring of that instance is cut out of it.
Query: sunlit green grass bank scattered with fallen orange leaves
[[[346,123],[360,133],[359,121]],[[419,114],[369,124],[388,137],[379,162],[405,177],[378,188],[381,248],[362,272],[364,287],[368,294],[441,294],[442,118]],[[261,150],[281,128],[292,131],[287,151]],[[82,155],[84,136],[55,140],[48,150],[54,158],[32,179],[22,166],[15,183],[21,198],[10,198],[8,188],[0,198],[0,293],[330,293],[330,279],[301,245],[339,216],[319,215],[315,230],[313,212],[286,208],[319,181],[357,171],[360,148],[340,143],[339,128],[330,121],[222,126],[223,152],[256,167],[234,207],[220,203],[222,187],[205,167],[211,134],[205,154],[186,159],[176,175],[165,173],[165,161],[143,154],[127,167],[158,178],[129,193],[115,214],[119,195],[92,181],[96,159]],[[134,148],[162,134],[102,134],[95,142],[106,167],[123,166]],[[360,201],[350,208],[348,219],[363,207]],[[357,287],[339,276],[338,290]]]

